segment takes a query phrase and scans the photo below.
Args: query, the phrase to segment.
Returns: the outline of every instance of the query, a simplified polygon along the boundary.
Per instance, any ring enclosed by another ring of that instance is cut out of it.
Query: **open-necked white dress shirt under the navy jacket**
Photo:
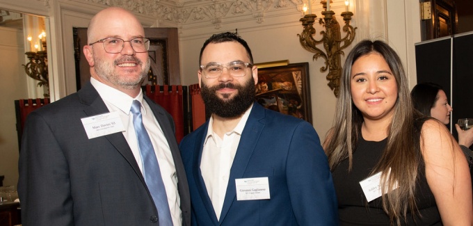
[[[202,172],[207,193],[209,193],[217,219],[220,219],[230,177],[230,169],[232,168],[241,133],[248,120],[251,108],[252,105],[243,113],[236,127],[232,131],[225,133],[223,138],[215,134],[212,129],[214,118],[211,117],[209,121],[204,149],[202,150],[202,160],[200,161],[200,172]]]

